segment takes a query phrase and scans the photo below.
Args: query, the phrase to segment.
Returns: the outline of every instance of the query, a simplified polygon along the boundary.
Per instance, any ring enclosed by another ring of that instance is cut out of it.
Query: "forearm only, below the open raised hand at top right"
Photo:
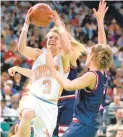
[[[104,29],[104,20],[98,20],[98,43],[106,44],[106,34]]]

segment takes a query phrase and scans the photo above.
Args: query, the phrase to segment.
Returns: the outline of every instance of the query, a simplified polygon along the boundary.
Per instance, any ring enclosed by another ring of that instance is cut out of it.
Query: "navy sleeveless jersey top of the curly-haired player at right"
[[[91,91],[86,88],[78,91],[74,117],[84,125],[98,128],[100,124],[99,108],[105,94],[107,78],[99,71],[94,73],[97,76],[95,89]]]

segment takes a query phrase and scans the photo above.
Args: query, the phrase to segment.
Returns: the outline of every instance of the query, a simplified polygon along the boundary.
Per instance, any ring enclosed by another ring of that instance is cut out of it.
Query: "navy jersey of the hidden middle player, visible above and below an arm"
[[[71,67],[70,68],[70,73],[68,75],[68,79],[70,80],[74,80],[77,77],[77,68]],[[75,94],[75,90],[72,91],[66,91],[65,89],[62,91],[61,96],[68,96],[68,95],[74,95]]]

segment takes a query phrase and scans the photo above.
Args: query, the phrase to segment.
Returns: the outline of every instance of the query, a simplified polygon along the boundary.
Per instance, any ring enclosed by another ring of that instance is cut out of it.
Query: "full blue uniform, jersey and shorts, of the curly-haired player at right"
[[[99,71],[94,72],[97,76],[95,89],[81,89],[77,93],[73,122],[63,137],[95,137],[99,128],[101,117],[100,105],[105,95],[107,78]]]

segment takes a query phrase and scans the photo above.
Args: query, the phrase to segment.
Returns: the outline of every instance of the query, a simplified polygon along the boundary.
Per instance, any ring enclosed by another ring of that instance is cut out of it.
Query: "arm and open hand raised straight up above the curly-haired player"
[[[99,44],[106,44],[106,34],[104,29],[104,17],[108,10],[108,7],[106,7],[106,2],[100,1],[98,10],[93,9],[94,16],[97,20],[98,24],[98,43]]]

